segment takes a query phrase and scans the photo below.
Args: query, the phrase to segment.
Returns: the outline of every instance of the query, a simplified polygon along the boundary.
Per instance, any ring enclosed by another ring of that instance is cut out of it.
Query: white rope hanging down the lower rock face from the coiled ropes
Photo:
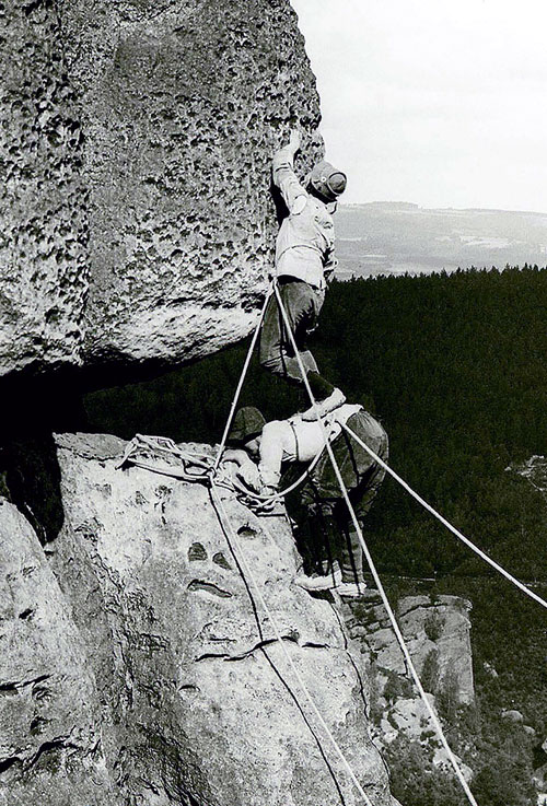
[[[296,678],[296,680],[298,680],[298,682],[299,682],[299,685],[300,685],[300,687],[301,687],[301,689],[302,689],[302,691],[303,691],[303,693],[304,693],[307,702],[310,703],[310,705],[311,705],[311,708],[312,708],[315,716],[317,717],[319,724],[322,725],[325,734],[329,738],[329,740],[330,740],[330,743],[331,743],[331,745],[333,745],[336,754],[338,755],[340,761],[342,762],[344,767],[346,768],[346,770],[347,770],[349,776],[351,778],[351,781],[353,782],[357,791],[359,792],[359,794],[363,798],[363,801],[366,804],[366,806],[372,806],[371,799],[369,798],[369,796],[364,792],[363,787],[359,783],[358,779],[356,778],[356,774],[354,774],[353,770],[351,769],[351,767],[349,766],[349,762],[346,759],[346,756],[344,755],[344,752],[340,749],[338,743],[336,741],[335,737],[333,736],[333,733],[330,732],[327,723],[323,719],[323,716],[322,716],[322,714],[321,714],[317,705],[315,704],[314,699],[313,699],[312,694],[310,693],[310,691],[309,691],[309,689],[307,689],[307,687],[306,687],[306,685],[305,685],[305,682],[304,682],[304,680],[303,680],[300,671],[298,670],[296,666],[294,665],[294,662],[292,661],[290,654],[287,651],[287,647],[284,645],[284,641],[282,640],[281,633],[279,631],[279,627],[277,624],[277,621],[274,618],[274,615],[271,614],[271,610],[269,609],[268,605],[266,604],[266,600],[265,600],[265,598],[263,596],[260,586],[259,586],[258,582],[256,581],[255,575],[253,574],[253,571],[252,571],[249,564],[246,561],[245,552],[243,551],[242,545],[241,545],[241,542],[240,542],[240,540],[237,538],[237,535],[235,534],[235,529],[232,528],[232,524],[230,523],[230,518],[228,516],[228,513],[226,513],[226,511],[224,509],[224,505],[222,504],[222,499],[220,498],[220,495],[217,492],[216,483],[214,483],[214,478],[212,476],[211,476],[211,499],[212,499],[212,502],[213,502],[214,507],[217,510],[217,513],[218,513],[218,516],[219,516],[219,521],[221,523],[221,526],[224,529],[226,529],[226,532],[230,535],[230,539],[233,541],[234,546],[237,549],[238,560],[240,560],[240,562],[241,562],[241,564],[243,566],[243,570],[245,572],[245,575],[248,576],[248,579],[253,583],[253,586],[254,586],[254,588],[256,591],[257,598],[258,598],[258,600],[259,600],[259,603],[260,603],[260,605],[261,605],[265,614],[267,615],[267,617],[269,619],[269,623],[271,624],[271,628],[272,628],[274,633],[276,635],[276,639],[277,639],[277,641],[279,643],[279,646],[280,646],[280,649],[281,649],[281,651],[282,651],[282,653],[283,653],[283,655],[284,655],[284,657],[286,657],[289,666],[291,667],[291,669],[292,669],[292,671],[294,674],[294,677]],[[222,517],[221,517],[221,515],[222,515]]]

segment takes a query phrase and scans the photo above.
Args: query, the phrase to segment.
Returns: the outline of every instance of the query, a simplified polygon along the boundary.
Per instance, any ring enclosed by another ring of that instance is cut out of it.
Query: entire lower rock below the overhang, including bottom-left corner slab
[[[0,507],[0,803],[357,806],[284,647],[371,802],[392,806],[366,678],[333,605],[294,585],[286,518],[221,493],[281,646],[205,486],[116,469],[116,437],[57,446],[47,559]]]

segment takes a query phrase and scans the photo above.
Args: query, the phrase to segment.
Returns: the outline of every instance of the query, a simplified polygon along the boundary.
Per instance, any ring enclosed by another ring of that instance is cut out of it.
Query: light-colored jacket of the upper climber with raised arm
[[[276,274],[294,277],[324,289],[336,268],[334,257],[334,205],[321,201],[300,184],[290,149],[274,155],[274,183],[279,188],[289,215],[277,237]]]

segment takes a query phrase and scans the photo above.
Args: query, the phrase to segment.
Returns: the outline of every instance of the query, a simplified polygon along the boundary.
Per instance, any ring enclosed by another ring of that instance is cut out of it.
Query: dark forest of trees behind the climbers
[[[547,270],[537,267],[334,282],[311,340],[322,373],[383,422],[394,469],[480,548],[539,585],[547,583],[546,501],[515,468],[547,454],[546,311]],[[248,340],[153,381],[88,395],[90,429],[218,442],[247,347]],[[304,408],[305,399],[261,371],[255,357],[242,404],[272,419]],[[480,723],[484,746],[467,750],[469,763],[479,770],[482,806],[531,804],[526,786],[508,801],[509,783],[500,784],[509,769],[512,781],[529,780],[532,769],[532,740],[523,737],[515,749],[500,713],[516,708],[539,744],[547,735],[545,610],[493,579],[392,480],[366,527],[393,595],[412,591],[401,577],[428,577],[432,592],[473,601],[473,731]],[[485,663],[498,677],[486,674]],[[464,758],[468,722],[462,717],[454,728],[463,732]],[[401,786],[405,776],[408,768]],[[427,780],[421,799],[405,799],[401,791],[405,806],[458,803]]]

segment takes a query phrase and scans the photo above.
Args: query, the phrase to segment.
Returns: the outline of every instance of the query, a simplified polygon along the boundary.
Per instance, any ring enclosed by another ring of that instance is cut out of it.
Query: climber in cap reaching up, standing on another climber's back
[[[327,280],[336,267],[333,213],[347,179],[341,171],[323,160],[312,170],[304,187],[294,173],[294,155],[299,149],[300,133],[292,130],[289,144],[274,155],[274,184],[288,212],[277,237],[275,276],[319,414],[325,414],[346,398],[340,389],[319,375],[315,359],[306,348],[306,338],[317,326]],[[260,364],[292,383],[303,384],[275,295],[266,308],[260,332]],[[307,409],[303,417],[313,420],[315,412]]]

